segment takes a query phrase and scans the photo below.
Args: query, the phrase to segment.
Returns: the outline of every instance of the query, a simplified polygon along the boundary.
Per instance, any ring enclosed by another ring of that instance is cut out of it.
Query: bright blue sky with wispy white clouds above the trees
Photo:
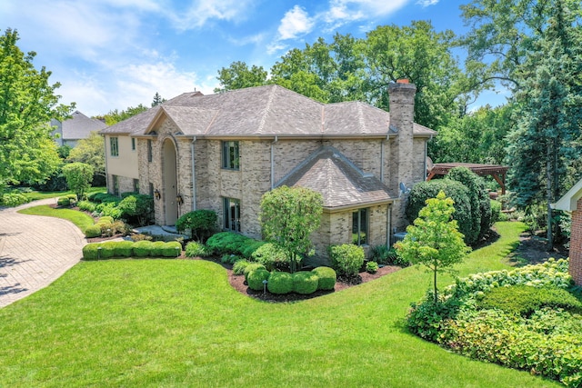
[[[268,70],[286,51],[336,32],[356,37],[377,25],[431,20],[465,31],[468,0],[2,0],[0,27],[53,72],[62,103],[87,115],[213,93],[217,72],[235,61]],[[481,100],[499,102],[489,94]],[[502,101],[501,101],[502,102]]]

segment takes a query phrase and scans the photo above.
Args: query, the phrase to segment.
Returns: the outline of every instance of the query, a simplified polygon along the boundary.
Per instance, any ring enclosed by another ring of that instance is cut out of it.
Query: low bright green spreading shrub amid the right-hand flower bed
[[[582,312],[582,303],[566,290],[555,287],[536,288],[523,284],[496,287],[485,293],[478,303],[482,309],[499,309],[528,317],[542,307],[561,308],[572,313]]]

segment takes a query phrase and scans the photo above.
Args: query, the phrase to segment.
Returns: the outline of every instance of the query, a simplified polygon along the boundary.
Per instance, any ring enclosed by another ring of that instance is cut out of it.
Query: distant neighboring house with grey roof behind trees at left
[[[79,140],[89,137],[91,132],[100,131],[107,126],[104,122],[87,117],[79,111],[75,111],[71,116],[64,122],[51,120],[51,125],[55,127],[52,136],[59,146],[68,145],[73,148]]]

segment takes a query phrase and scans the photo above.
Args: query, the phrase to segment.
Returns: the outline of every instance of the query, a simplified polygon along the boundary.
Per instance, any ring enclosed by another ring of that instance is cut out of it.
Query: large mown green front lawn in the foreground
[[[461,274],[507,268],[523,224],[471,254]],[[10,387],[545,387],[406,331],[431,275],[409,267],[300,303],[237,293],[201,260],[82,262],[0,309],[0,385]],[[450,279],[442,276],[442,284]]]

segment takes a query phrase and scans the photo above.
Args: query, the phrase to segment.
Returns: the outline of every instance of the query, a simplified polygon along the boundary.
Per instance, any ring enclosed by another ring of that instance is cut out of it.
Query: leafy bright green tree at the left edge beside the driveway
[[[60,164],[51,137],[51,119],[64,120],[75,104],[58,104],[59,83],[50,71],[36,70],[35,52],[16,45],[16,30],[0,35],[0,192],[6,184],[40,183]]]

